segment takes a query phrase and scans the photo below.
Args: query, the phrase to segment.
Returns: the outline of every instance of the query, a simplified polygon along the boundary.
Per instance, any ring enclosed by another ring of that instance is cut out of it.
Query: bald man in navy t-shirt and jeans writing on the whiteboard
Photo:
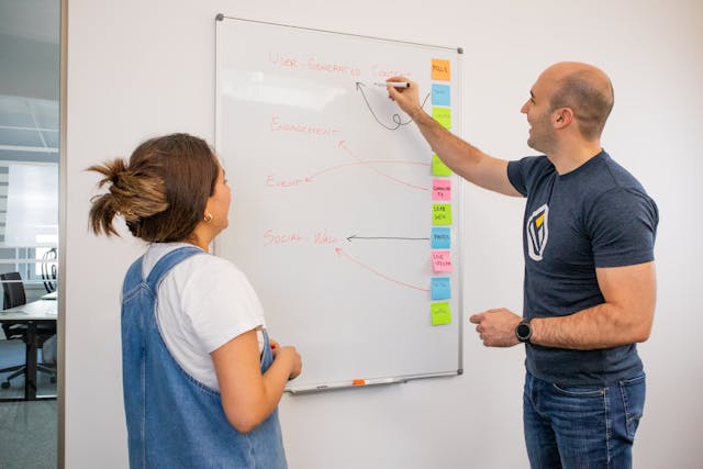
[[[613,87],[579,63],[547,68],[521,112],[540,156],[498,159],[422,109],[417,85],[388,87],[439,158],[466,180],[526,198],[523,314],[470,316],[489,347],[524,344],[523,422],[533,468],[632,467],[645,403],[636,343],[656,302],[657,205],[601,147]]]

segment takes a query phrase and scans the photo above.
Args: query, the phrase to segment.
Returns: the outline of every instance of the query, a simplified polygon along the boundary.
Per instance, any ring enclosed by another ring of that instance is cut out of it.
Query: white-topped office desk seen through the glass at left
[[[58,302],[38,300],[21,306],[0,311],[0,322],[12,321],[27,324],[26,371],[24,373],[24,399],[36,400],[36,351],[38,349],[36,324],[56,322]]]

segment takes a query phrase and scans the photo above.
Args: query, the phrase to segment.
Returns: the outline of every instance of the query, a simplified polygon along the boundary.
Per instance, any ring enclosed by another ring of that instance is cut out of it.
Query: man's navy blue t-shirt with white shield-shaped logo
[[[559,176],[546,156],[511,161],[527,198],[523,228],[525,317],[573,314],[604,303],[595,268],[654,260],[659,214],[641,185],[605,152]],[[641,371],[634,344],[572,350],[527,344],[527,370],[568,386],[606,384]]]

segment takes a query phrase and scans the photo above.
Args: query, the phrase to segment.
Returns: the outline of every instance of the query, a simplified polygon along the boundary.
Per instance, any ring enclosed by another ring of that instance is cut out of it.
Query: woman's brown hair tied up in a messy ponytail
[[[130,232],[147,242],[187,241],[202,220],[214,192],[219,166],[201,138],[172,134],[140,145],[130,161],[116,158],[93,165],[108,191],[91,199],[90,226],[94,234],[118,234],[121,216]]]

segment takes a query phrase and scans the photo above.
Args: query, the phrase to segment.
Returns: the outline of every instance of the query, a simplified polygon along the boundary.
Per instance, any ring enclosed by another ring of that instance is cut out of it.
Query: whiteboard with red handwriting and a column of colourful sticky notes
[[[460,180],[433,175],[432,149],[373,83],[411,78],[424,109],[460,129],[461,51],[215,23],[215,149],[233,194],[215,254],[300,351],[287,390],[460,375]]]

